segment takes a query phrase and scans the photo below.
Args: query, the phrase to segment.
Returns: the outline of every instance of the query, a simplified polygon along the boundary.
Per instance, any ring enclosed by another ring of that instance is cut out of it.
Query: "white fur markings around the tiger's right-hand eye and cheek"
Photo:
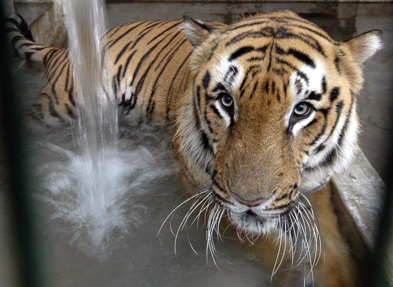
[[[323,63],[316,62],[316,68],[304,65],[300,71],[304,73],[308,78],[308,83],[303,77],[299,76],[297,72],[291,75],[289,86],[290,92],[293,96],[292,105],[288,109],[285,115],[285,125],[289,125],[289,120],[293,114],[294,107],[302,101],[305,101],[309,92],[314,91],[315,93],[322,93],[323,87],[321,86],[322,79],[325,73]],[[323,100],[313,101],[307,100],[315,108],[322,107]],[[331,111],[335,113],[335,111]],[[299,120],[292,127],[292,133],[296,136],[299,131],[306,126],[314,118],[315,112],[309,115],[309,117]],[[313,190],[327,181],[334,172],[340,172],[345,169],[351,162],[356,152],[356,143],[358,136],[358,120],[356,117],[356,105],[354,104],[352,110],[349,112],[349,119],[347,123],[346,132],[342,135],[341,144],[338,146],[339,135],[342,133],[342,129],[345,123],[346,116],[341,115],[337,121],[337,126],[330,138],[330,129],[327,129],[325,134],[315,143],[314,146],[324,142],[324,149],[313,154],[309,154],[304,159],[307,168],[302,173],[301,182],[299,189],[303,192]],[[331,165],[323,165],[323,161],[326,156],[333,150],[336,149],[336,158],[333,159]]]

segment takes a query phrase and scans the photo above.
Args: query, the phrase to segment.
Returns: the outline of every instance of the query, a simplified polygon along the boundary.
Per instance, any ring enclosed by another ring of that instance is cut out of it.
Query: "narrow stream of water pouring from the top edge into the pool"
[[[113,91],[105,85],[111,71],[111,62],[105,57],[105,7],[102,0],[62,0],[62,5],[77,88],[77,143],[84,161],[84,172],[80,174],[86,194],[84,208],[97,224],[105,225],[110,216],[108,204],[113,203],[108,195],[115,195],[119,188],[113,184],[116,174],[110,164],[118,151],[118,127]]]

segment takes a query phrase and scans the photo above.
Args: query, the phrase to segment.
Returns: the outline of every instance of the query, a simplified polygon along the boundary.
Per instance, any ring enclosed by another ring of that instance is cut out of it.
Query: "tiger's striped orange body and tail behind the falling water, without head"
[[[45,84],[29,111],[36,121],[56,125],[76,117],[75,86],[68,49],[45,47],[21,35],[16,26],[9,38],[21,58],[41,61]],[[175,119],[176,103],[190,82],[188,59],[193,46],[180,29],[182,21],[128,23],[106,32],[104,57],[112,66],[113,97],[122,115],[133,118]],[[211,23],[218,27],[220,23]]]

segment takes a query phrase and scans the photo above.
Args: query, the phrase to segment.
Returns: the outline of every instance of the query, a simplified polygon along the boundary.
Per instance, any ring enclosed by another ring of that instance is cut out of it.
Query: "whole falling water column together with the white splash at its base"
[[[105,84],[111,63],[105,57],[103,1],[61,2],[76,86],[78,132],[72,136],[70,149],[61,142],[44,144],[58,160],[44,164],[41,174],[45,174],[48,199],[56,207],[54,216],[77,227],[73,241],[87,233],[91,243],[100,246],[112,230],[125,231],[121,197],[127,191],[126,170],[133,171],[127,161],[133,161],[135,153],[119,146],[117,104]]]

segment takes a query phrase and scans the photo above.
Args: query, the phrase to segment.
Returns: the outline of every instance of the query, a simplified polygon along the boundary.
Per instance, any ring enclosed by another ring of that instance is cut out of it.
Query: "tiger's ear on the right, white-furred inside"
[[[380,30],[371,30],[353,37],[342,44],[350,49],[357,63],[363,66],[366,60],[372,57],[378,50],[382,49],[383,42],[381,40],[381,34],[382,32]]]

